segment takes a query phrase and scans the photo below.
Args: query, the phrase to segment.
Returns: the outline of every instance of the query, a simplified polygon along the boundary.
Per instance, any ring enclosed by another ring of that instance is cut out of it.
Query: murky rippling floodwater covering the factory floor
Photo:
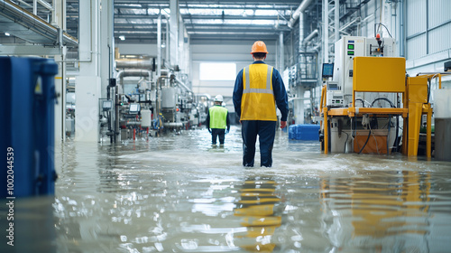
[[[278,131],[272,168],[258,148],[244,168],[237,126],[224,146],[205,129],[68,141],[54,198],[16,204],[15,230],[33,235],[17,231],[15,252],[451,250],[451,163],[319,149]]]

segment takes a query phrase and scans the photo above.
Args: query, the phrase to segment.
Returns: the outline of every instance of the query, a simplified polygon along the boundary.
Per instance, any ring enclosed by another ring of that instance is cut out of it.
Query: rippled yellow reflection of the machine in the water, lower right
[[[364,171],[321,181],[329,239],[336,248],[430,252],[430,173]]]

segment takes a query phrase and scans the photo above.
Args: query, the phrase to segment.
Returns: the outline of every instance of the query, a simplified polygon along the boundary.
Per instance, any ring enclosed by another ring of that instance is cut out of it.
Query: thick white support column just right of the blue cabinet
[[[80,1],[78,55],[75,81],[75,140],[97,142],[100,79],[100,1]]]

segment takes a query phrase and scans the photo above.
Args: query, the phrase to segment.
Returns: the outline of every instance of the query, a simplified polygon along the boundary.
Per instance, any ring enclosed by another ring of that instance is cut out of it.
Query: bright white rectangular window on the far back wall
[[[200,80],[235,80],[235,63],[204,62],[199,64]]]

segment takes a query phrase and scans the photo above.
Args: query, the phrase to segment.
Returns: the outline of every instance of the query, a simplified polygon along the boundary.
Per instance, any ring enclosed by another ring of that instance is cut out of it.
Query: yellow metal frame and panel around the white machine
[[[406,78],[406,60],[394,57],[355,57],[353,77],[353,102],[348,108],[327,108],[327,90],[323,86],[319,110],[324,117],[324,153],[328,153],[328,117],[375,117],[400,115],[404,118],[402,154],[418,155],[421,116],[427,115],[426,155],[431,157],[432,108],[428,103],[428,80],[438,78],[441,89],[441,74],[431,73]],[[356,108],[355,92],[392,92],[402,95],[403,108]]]

